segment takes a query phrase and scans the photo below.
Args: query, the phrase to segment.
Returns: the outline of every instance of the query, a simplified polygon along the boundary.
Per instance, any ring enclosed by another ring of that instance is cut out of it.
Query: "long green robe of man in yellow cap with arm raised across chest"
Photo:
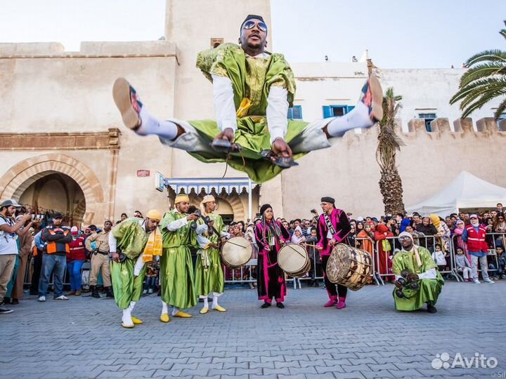
[[[197,295],[193,285],[193,262],[190,248],[195,245],[195,233],[190,230],[190,222],[174,232],[167,226],[173,221],[186,218],[186,214],[170,211],[164,214],[162,229],[163,253],[160,258],[160,288],[162,300],[181,310],[193,307]]]

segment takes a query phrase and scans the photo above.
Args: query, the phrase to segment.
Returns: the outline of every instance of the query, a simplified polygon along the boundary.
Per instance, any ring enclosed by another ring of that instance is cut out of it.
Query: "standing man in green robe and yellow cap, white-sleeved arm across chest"
[[[187,214],[190,199],[186,194],[176,195],[174,211],[164,214],[160,229],[163,237],[163,253],[160,258],[160,288],[162,290],[162,314],[160,321],[169,322],[172,316],[188,318],[184,312],[197,303],[193,285],[193,263],[189,246],[195,246],[196,234],[190,222],[198,220],[196,213]]]

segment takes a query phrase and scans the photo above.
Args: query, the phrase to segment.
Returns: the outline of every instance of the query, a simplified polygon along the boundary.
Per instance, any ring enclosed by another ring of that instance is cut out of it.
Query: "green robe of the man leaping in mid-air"
[[[271,149],[271,135],[266,120],[267,98],[271,86],[286,88],[288,102],[293,105],[295,79],[290,65],[281,54],[268,58],[248,58],[245,51],[235,44],[222,44],[217,48],[202,51],[197,55],[197,67],[212,81],[212,75],[228,77],[232,81],[235,109],[240,108],[243,99],[251,100],[251,107],[244,117],[238,117],[235,142],[242,147],[241,153],[233,153],[226,159],[214,151],[190,152],[193,157],[209,162],[226,161],[231,167],[244,171],[254,182],[266,182],[282,171],[282,168],[262,159],[260,152]],[[188,121],[197,132],[209,140],[221,133],[216,121]],[[308,125],[304,121],[288,121],[285,140],[290,144]],[[294,154],[299,159],[305,153]],[[244,161],[243,161],[244,159]]]

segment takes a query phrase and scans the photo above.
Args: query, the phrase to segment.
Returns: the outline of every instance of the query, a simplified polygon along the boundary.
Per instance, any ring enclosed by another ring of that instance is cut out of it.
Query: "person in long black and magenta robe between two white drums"
[[[290,233],[279,221],[274,219],[273,208],[264,204],[260,208],[261,222],[255,226],[255,239],[259,247],[257,265],[257,289],[259,300],[264,300],[261,308],[271,306],[284,308],[286,295],[285,272],[278,265],[278,252],[285,242],[290,241]]]

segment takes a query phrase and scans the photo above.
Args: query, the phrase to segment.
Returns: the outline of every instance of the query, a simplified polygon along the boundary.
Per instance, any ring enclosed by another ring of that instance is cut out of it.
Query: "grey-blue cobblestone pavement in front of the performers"
[[[392,288],[349,293],[344,310],[324,308],[322,288],[289,289],[284,310],[261,310],[255,291],[230,288],[225,314],[197,305],[193,319],[169,324],[150,295],[134,312],[144,324],[129,330],[112,300],[30,296],[0,317],[0,378],[506,377],[506,281],[447,283],[436,314],[395,312]],[[498,366],[434,369],[444,352],[450,364],[479,353]]]

